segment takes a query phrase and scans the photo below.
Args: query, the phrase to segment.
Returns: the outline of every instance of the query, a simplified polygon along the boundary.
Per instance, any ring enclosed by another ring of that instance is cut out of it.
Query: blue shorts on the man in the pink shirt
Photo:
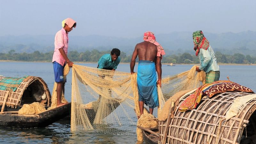
[[[62,66],[56,61],[54,61],[52,64],[53,64],[55,82],[56,83],[64,82],[63,70],[64,70],[64,67],[65,67],[65,64],[64,64],[64,66]],[[66,82],[66,80],[65,80],[65,82]]]

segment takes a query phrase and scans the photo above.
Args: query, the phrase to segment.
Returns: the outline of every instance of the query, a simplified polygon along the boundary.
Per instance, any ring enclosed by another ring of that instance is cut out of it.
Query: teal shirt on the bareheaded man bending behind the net
[[[120,57],[118,57],[116,59],[116,61],[112,61],[111,55],[110,54],[104,54],[103,56],[100,57],[100,59],[98,60],[98,68],[117,68],[117,65],[120,62]]]

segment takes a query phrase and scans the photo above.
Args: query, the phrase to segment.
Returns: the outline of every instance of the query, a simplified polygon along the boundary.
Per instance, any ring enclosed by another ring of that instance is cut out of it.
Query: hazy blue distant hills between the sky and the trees
[[[214,51],[224,54],[242,53],[244,55],[256,55],[256,32],[246,31],[240,33],[213,34],[204,32]],[[164,47],[167,54],[179,54],[188,52],[194,54],[191,32],[172,32],[169,34],[156,34],[156,40]],[[120,38],[111,36],[72,36],[69,35],[69,51],[83,52],[98,49],[106,51],[119,48],[127,54],[131,54],[134,46],[143,41],[142,36],[136,38]],[[23,35],[0,36],[0,52],[50,52],[54,49],[54,35]]]

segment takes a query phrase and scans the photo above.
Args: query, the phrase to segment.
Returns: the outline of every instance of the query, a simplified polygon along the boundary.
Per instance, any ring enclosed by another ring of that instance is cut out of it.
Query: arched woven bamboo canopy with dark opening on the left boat
[[[3,78],[5,77],[0,76],[0,80]],[[33,99],[32,95],[36,92],[45,92],[46,99],[38,102],[45,106],[50,106],[51,93],[47,84],[42,78],[36,76],[28,76],[26,81],[22,81],[14,92],[10,89],[0,90],[0,106],[2,106],[2,109],[5,106],[17,108],[23,104],[35,102],[36,100]]]

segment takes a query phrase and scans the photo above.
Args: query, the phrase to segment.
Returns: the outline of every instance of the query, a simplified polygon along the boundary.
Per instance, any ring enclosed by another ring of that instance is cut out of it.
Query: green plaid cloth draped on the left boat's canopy
[[[11,88],[12,91],[16,91],[17,87],[20,85],[20,83],[27,78],[28,76],[23,77],[4,77],[0,80],[0,90],[7,90],[8,88]]]

